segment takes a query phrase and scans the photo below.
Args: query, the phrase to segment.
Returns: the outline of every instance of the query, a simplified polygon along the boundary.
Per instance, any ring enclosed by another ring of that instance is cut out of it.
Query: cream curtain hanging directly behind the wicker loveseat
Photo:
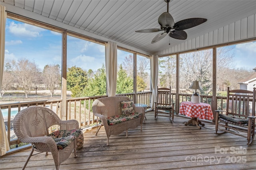
[[[108,41],[105,47],[105,54],[108,96],[116,96],[117,44]]]

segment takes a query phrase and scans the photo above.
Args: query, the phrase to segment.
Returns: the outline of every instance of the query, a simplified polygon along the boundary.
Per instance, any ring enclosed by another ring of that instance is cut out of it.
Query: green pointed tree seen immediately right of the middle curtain
[[[119,66],[116,81],[116,94],[132,93],[133,92],[133,79],[127,76],[126,71],[123,69],[122,64]]]

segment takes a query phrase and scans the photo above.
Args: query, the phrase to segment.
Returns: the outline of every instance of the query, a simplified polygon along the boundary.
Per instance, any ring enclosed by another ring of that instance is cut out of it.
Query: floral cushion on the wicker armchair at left
[[[58,130],[51,133],[48,136],[54,139],[58,149],[64,149],[66,146],[72,143],[76,139],[76,137],[78,137],[81,134],[82,134],[81,129],[74,129],[74,130]]]

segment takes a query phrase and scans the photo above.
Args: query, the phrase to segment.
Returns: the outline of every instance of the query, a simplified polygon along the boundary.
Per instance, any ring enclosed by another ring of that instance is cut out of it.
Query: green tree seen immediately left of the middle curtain
[[[82,96],[102,96],[106,95],[106,69],[102,65],[96,73],[90,77],[86,87],[83,89]]]

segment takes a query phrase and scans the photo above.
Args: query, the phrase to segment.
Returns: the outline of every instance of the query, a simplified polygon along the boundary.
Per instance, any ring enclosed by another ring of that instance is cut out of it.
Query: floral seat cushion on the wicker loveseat
[[[141,116],[142,116],[142,113],[135,112],[130,114],[122,114],[122,115],[115,115],[112,117],[108,117],[107,121],[108,121],[108,125],[114,125],[130,119],[136,119],[137,117],[141,117]]]

